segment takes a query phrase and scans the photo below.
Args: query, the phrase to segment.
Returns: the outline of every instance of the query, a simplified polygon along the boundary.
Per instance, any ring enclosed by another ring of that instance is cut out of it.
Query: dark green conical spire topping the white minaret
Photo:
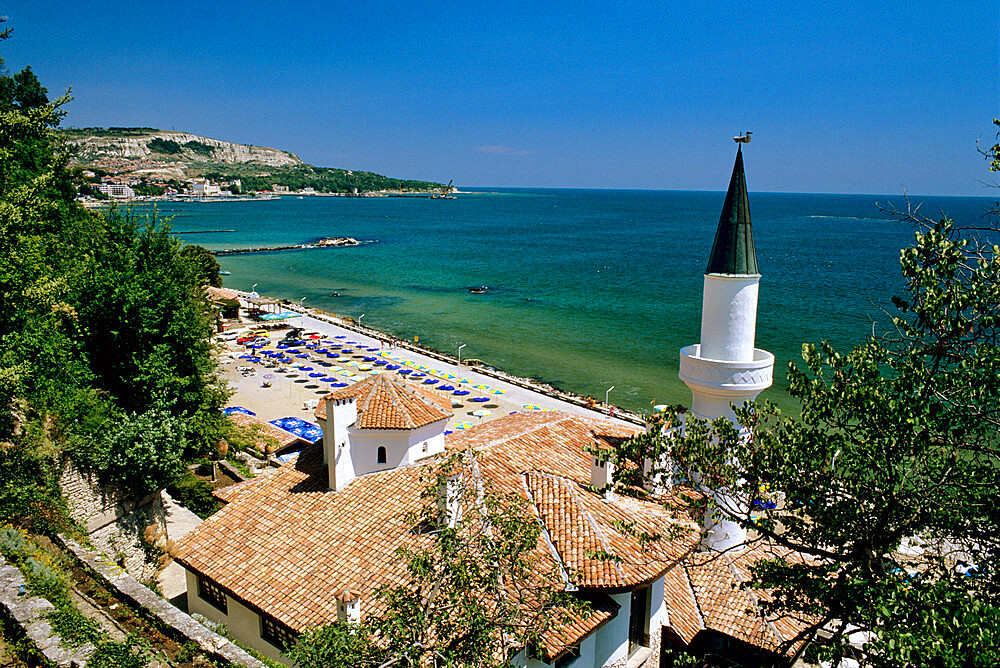
[[[743,172],[743,147],[736,149],[736,164],[729,180],[726,203],[722,205],[719,229],[708,258],[706,274],[757,274],[757,253],[753,249],[750,230],[750,199],[747,179]]]

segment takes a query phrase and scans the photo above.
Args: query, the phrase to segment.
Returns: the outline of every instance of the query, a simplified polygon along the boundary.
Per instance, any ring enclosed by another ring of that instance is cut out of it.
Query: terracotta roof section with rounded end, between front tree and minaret
[[[683,559],[698,526],[653,499],[590,491],[594,443],[610,446],[637,431],[560,412],[519,413],[446,437],[451,450],[476,448],[484,478],[522,490],[534,504],[556,557],[580,587],[631,588]],[[662,539],[643,544],[640,534]]]

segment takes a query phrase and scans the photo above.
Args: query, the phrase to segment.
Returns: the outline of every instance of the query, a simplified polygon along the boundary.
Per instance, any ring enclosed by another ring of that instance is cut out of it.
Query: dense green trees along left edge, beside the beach
[[[214,445],[225,398],[201,269],[155,219],[75,201],[68,101],[0,61],[0,507],[43,526],[65,512],[62,456],[163,484]]]

